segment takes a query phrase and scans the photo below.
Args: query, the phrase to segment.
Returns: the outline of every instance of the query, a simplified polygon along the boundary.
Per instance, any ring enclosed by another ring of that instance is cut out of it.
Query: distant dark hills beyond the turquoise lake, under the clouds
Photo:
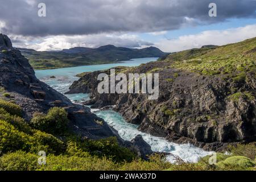
[[[38,52],[33,49],[19,48],[34,69],[54,69],[76,67],[81,65],[94,65],[115,63],[142,57],[161,57],[166,55],[156,47],[143,49],[130,49],[112,45],[99,48],[75,47],[55,52]]]

